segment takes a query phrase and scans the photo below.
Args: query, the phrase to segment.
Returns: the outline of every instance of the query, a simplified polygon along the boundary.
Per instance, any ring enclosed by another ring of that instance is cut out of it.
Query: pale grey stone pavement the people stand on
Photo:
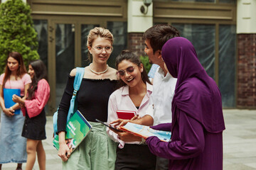
[[[223,169],[252,170],[256,169],[256,111],[224,110],[225,127],[223,132]],[[47,139],[43,140],[46,150],[46,169],[62,169],[61,159],[52,145],[53,121],[47,117]],[[23,164],[25,169],[26,164]],[[3,170],[14,170],[16,164],[3,164]],[[38,170],[36,162],[34,170]]]

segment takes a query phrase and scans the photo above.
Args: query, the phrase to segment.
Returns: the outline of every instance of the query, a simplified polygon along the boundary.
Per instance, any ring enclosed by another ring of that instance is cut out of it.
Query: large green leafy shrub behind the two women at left
[[[33,28],[31,8],[22,0],[9,0],[0,5],[0,73],[4,72],[9,52],[19,52],[28,62],[39,59],[38,40]]]

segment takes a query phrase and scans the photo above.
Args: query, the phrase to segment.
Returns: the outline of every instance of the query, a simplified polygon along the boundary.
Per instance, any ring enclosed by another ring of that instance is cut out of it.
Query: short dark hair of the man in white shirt
[[[179,37],[179,31],[174,27],[166,24],[156,24],[147,29],[143,34],[144,39],[150,40],[153,52],[161,50],[165,42],[171,38]]]

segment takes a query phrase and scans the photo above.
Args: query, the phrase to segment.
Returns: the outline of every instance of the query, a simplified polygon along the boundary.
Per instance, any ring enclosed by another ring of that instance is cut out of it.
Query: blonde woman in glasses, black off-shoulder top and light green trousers
[[[87,36],[87,48],[90,56],[92,55],[92,63],[85,67],[77,100],[78,110],[93,128],[71,155],[65,142],[65,128],[76,69],[68,77],[58,109],[58,156],[63,160],[63,169],[114,169],[117,145],[107,136],[105,126],[95,120],[107,121],[107,103],[117,84],[117,70],[107,65],[113,50],[113,41],[110,30],[100,27],[90,30]]]

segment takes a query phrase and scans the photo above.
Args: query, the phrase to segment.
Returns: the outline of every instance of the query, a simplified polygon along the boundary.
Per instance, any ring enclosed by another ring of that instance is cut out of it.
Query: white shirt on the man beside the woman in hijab
[[[171,123],[171,101],[177,79],[159,67],[154,75],[153,93],[150,97],[150,106],[147,113],[154,115],[154,125]]]

